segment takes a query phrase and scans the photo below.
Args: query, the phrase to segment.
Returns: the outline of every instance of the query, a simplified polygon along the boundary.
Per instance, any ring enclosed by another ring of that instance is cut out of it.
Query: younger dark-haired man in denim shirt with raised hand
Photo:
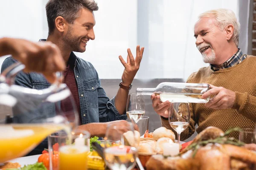
[[[93,11],[96,10],[98,6],[94,0],[49,0],[46,5],[49,26],[46,42],[52,42],[60,48],[67,65],[63,73],[64,83],[70,88],[75,99],[80,117],[79,128],[89,131],[91,136],[104,136],[108,122],[118,120],[120,124],[127,123],[124,121],[127,119],[126,101],[131,83],[140,67],[144,48],[140,49],[140,46],[137,46],[135,59],[131,50],[128,49],[127,62],[119,56],[125,70],[116,96],[109,99],[101,87],[93,65],[76,57],[73,53],[73,51],[84,52],[87,43],[95,39]],[[3,71],[14,62],[17,62],[14,58],[7,58],[1,70]],[[15,83],[35,89],[50,86],[44,76],[36,73],[20,73]]]

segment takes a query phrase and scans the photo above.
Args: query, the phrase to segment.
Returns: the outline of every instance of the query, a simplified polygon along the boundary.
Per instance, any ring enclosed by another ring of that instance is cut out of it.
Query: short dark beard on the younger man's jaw
[[[73,34],[73,28],[68,27],[67,34],[63,37],[64,43],[71,48],[71,51],[83,53],[85,48],[81,48],[81,40]]]

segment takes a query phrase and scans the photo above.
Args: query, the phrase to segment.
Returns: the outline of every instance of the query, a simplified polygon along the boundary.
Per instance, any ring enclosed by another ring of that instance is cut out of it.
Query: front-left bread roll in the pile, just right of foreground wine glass
[[[153,140],[141,141],[140,146],[138,148],[138,152],[143,154],[154,154],[156,153],[156,143],[157,142]]]

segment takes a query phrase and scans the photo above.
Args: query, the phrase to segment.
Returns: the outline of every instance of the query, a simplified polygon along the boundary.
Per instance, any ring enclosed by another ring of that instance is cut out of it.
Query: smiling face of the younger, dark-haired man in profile
[[[65,45],[69,46],[71,51],[84,52],[87,42],[95,39],[93,26],[95,26],[93,11],[82,8],[79,17],[73,24],[69,24],[67,33],[64,34]]]

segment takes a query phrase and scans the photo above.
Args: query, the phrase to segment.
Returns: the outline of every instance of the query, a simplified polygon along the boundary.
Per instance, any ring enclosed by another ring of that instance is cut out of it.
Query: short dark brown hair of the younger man
[[[46,4],[49,34],[54,30],[55,19],[58,16],[63,17],[68,23],[72,24],[79,16],[81,8],[87,8],[90,11],[99,9],[94,0],[49,0]]]

